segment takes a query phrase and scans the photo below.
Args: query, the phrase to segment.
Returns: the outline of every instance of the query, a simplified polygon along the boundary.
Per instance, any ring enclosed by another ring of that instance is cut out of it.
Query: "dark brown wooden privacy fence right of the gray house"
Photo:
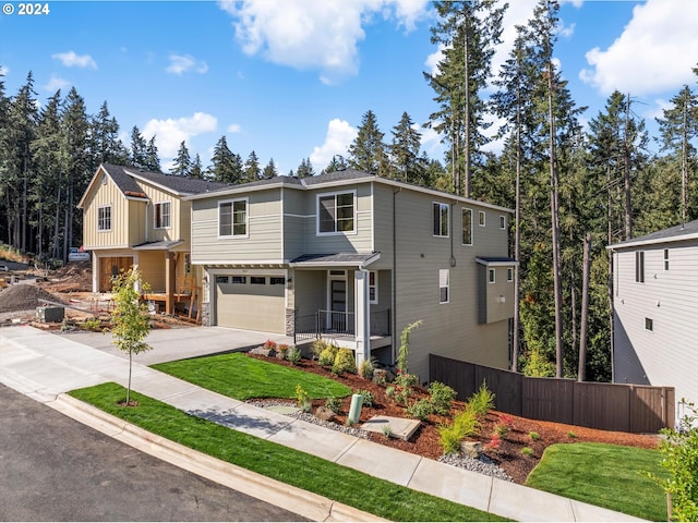
[[[497,411],[530,419],[636,434],[674,428],[673,387],[529,378],[435,354],[429,355],[429,372],[461,401],[485,381]]]

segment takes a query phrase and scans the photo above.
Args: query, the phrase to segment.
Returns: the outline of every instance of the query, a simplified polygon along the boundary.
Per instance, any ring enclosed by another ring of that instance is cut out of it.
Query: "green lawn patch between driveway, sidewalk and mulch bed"
[[[242,401],[251,398],[296,398],[297,385],[311,399],[344,398],[351,393],[351,389],[335,380],[234,352],[160,363],[153,368]]]

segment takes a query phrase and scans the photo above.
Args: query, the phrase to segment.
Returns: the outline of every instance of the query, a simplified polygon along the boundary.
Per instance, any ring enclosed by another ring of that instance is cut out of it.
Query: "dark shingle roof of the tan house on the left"
[[[135,167],[113,166],[104,163],[104,169],[109,173],[117,186],[123,194],[137,196],[143,194],[136,179],[146,180],[153,184],[160,185],[179,195],[201,194],[208,191],[231,187],[229,183],[210,182],[208,180],[195,180],[192,178],[176,177],[161,172],[144,171]]]

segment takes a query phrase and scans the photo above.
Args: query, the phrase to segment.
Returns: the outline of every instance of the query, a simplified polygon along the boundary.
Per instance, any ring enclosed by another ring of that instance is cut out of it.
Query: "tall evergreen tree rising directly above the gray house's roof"
[[[438,72],[424,76],[440,110],[431,126],[450,143],[453,192],[470,196],[472,161],[486,138],[482,134],[486,102],[480,93],[490,80],[492,57],[502,35],[507,4],[500,0],[437,0],[438,21],[432,26],[432,44],[443,46]]]

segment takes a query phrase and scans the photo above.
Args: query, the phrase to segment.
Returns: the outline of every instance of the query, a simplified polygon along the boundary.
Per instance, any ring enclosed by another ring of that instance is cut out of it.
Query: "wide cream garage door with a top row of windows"
[[[278,276],[216,276],[216,325],[282,335],[285,289]]]

